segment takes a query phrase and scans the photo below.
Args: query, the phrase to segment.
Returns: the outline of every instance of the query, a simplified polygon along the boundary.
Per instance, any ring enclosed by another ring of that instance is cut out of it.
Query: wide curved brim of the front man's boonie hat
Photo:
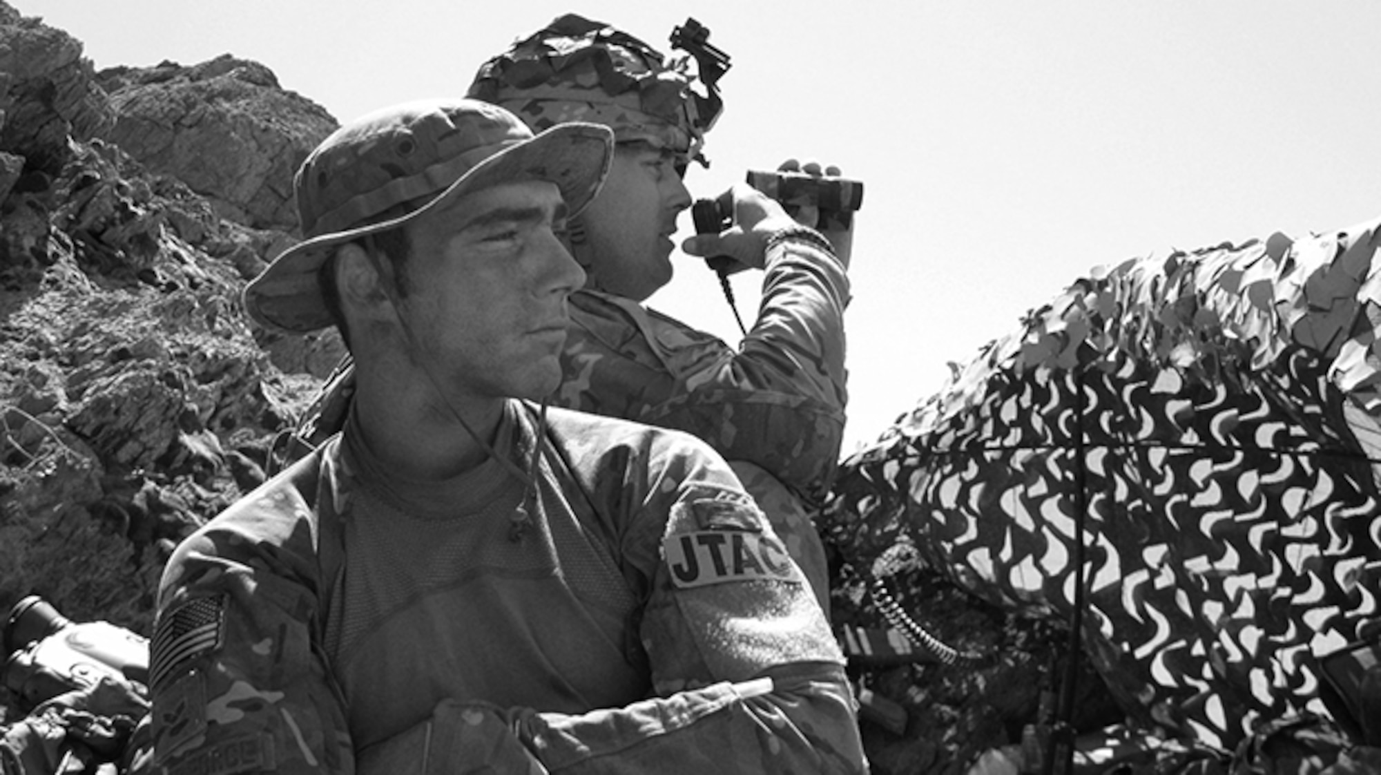
[[[599,192],[613,163],[613,134],[602,124],[557,124],[536,137],[512,142],[471,167],[427,204],[387,221],[330,232],[284,250],[244,286],[244,309],[255,322],[290,333],[333,325],[322,298],[318,272],[331,250],[362,236],[398,228],[445,203],[494,185],[550,181],[561,189],[570,216]]]

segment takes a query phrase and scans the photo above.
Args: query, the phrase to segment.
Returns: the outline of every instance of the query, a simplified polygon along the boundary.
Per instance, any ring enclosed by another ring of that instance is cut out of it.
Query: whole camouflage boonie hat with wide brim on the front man
[[[293,181],[304,240],[244,287],[254,320],[287,332],[331,325],[318,272],[331,250],[485,188],[551,181],[579,213],[609,173],[608,127],[568,123],[533,135],[475,99],[409,102],[336,130]]]

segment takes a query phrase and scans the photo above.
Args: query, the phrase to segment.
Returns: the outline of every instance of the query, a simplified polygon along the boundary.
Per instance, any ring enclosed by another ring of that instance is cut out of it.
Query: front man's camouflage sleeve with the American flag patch
[[[151,645],[159,771],[355,771],[313,638],[315,539],[305,501],[279,478],[174,553]]]

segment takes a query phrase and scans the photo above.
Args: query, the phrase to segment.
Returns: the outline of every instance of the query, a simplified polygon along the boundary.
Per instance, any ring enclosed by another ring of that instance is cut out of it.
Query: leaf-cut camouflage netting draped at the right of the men
[[[844,463],[830,535],[1068,620],[1083,508],[1084,652],[1132,723],[1232,752],[1324,713],[1315,658],[1381,635],[1375,228],[1076,282]]]

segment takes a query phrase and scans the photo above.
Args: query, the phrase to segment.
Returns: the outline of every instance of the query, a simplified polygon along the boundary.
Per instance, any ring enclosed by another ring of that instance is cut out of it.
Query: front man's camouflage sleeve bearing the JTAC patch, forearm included
[[[660,438],[626,456],[650,460],[652,478],[630,466],[594,493],[634,506],[621,551],[646,600],[655,696],[518,711],[519,739],[551,772],[865,772],[844,660],[800,568],[721,460],[684,434]]]

